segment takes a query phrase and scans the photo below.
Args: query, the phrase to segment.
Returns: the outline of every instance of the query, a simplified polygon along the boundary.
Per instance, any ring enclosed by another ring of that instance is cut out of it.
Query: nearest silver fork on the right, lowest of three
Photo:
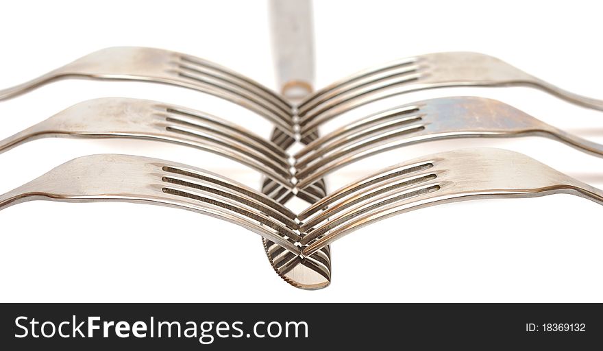
[[[523,154],[461,149],[389,167],[334,191],[298,215],[310,255],[369,223],[410,210],[470,199],[567,193],[603,205],[603,191]],[[328,209],[320,212],[321,209]],[[370,243],[378,239],[367,239]]]

